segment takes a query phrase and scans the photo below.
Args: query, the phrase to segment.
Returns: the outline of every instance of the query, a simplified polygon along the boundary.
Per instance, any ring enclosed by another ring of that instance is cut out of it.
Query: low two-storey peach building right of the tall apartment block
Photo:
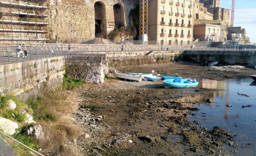
[[[220,25],[200,24],[194,25],[194,38],[199,41],[219,42]]]

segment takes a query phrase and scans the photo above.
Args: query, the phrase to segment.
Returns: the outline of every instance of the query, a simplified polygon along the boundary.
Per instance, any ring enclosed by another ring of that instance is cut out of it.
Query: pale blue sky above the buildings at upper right
[[[220,7],[230,10],[232,0],[220,0]],[[256,0],[236,0],[235,1],[235,17],[234,27],[242,27],[246,31],[246,35],[250,37],[252,43],[256,42]]]

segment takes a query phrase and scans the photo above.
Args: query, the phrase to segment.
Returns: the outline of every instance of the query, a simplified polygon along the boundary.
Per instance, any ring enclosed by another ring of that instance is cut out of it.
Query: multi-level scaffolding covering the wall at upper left
[[[46,0],[0,0],[0,43],[48,43]]]

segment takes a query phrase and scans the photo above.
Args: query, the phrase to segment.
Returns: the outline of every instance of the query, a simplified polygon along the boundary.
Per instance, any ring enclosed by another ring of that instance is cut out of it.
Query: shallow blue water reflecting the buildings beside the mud
[[[196,116],[190,116],[189,120],[199,120],[203,127],[211,129],[219,126],[230,133],[237,134],[234,137],[233,147],[226,147],[229,150],[236,150],[237,155],[256,155],[256,82],[252,79],[227,79],[224,81],[198,80],[199,86],[210,89],[220,89],[214,93],[204,96],[186,97],[178,99],[178,102],[197,101],[195,105],[199,112],[193,112]],[[250,97],[240,96],[238,93]],[[206,99],[211,99],[208,104]],[[232,107],[226,107],[226,104]],[[243,105],[252,105],[250,108],[242,108]],[[202,113],[206,113],[205,115]],[[236,148],[235,148],[236,147]]]

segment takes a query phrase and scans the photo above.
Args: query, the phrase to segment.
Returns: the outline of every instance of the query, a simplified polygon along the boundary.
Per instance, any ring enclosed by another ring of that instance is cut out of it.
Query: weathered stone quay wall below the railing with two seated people
[[[64,56],[0,65],[0,93],[18,95],[40,89],[44,82],[54,89],[62,84],[63,75]]]

